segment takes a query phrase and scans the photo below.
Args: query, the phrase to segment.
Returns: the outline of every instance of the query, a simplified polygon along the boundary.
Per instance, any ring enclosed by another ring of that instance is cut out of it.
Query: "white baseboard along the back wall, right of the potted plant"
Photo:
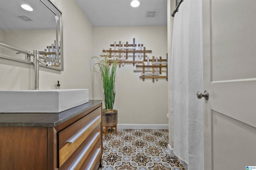
[[[118,129],[168,129],[168,124],[118,124]]]

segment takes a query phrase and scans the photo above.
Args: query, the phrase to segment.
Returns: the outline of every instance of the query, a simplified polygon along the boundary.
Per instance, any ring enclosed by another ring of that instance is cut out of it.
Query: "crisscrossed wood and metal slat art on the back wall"
[[[154,56],[150,59],[146,53],[152,53],[152,51],[146,50],[143,44],[135,43],[135,38],[133,39],[133,44],[128,44],[128,42],[121,43],[121,41],[119,41],[118,44],[116,44],[116,42],[110,44],[110,47],[114,47],[114,49],[110,48],[106,50],[109,53],[110,63],[112,59],[117,59],[119,67],[121,67],[121,64],[124,66],[124,63],[132,63],[134,66],[136,64],[134,72],[142,72],[140,79],[143,81],[148,78],[152,79],[152,82],[155,80],[158,81],[158,79],[168,80],[167,55],[166,59]],[[104,53],[106,53],[106,51],[103,50]]]

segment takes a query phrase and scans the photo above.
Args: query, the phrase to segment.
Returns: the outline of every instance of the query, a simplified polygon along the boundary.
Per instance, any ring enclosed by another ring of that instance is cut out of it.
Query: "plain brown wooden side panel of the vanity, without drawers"
[[[46,127],[0,127],[0,170],[47,170]]]

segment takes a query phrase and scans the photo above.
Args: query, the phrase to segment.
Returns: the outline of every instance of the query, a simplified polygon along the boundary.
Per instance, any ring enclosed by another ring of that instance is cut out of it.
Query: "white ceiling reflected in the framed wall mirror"
[[[20,7],[30,5],[34,11],[26,11]],[[32,21],[24,21],[18,16],[26,16]],[[0,29],[24,30],[56,28],[55,14],[39,0],[0,0]]]

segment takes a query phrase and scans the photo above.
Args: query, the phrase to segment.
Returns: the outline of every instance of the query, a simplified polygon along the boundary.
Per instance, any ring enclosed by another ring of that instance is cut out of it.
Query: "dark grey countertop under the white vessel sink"
[[[0,127],[55,127],[100,103],[89,100],[60,113],[0,113]]]

